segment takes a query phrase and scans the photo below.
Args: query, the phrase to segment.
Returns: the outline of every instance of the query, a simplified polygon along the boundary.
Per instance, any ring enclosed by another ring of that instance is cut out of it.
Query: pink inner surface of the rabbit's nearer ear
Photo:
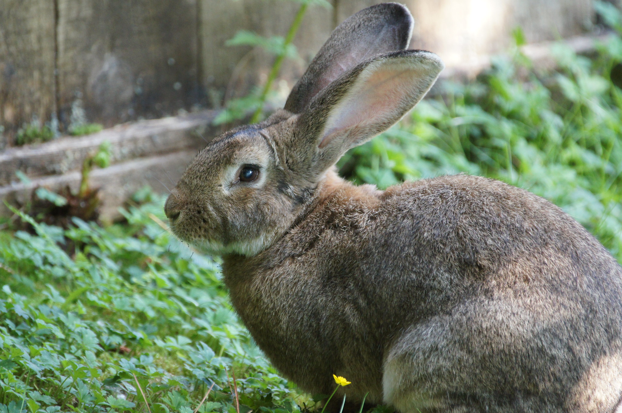
[[[402,116],[398,112],[417,94],[420,77],[420,71],[412,66],[394,65],[359,79],[328,119],[320,148],[347,129],[356,127],[364,132],[368,127],[384,129],[396,122]]]

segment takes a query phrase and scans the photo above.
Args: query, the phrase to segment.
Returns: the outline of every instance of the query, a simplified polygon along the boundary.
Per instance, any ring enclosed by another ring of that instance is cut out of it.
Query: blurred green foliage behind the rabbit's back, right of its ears
[[[610,75],[622,40],[612,35],[591,58],[562,43],[552,53],[554,73],[516,50],[473,83],[442,83],[442,97],[348,152],[342,175],[380,188],[455,173],[500,179],[562,207],[622,261],[622,78]]]

